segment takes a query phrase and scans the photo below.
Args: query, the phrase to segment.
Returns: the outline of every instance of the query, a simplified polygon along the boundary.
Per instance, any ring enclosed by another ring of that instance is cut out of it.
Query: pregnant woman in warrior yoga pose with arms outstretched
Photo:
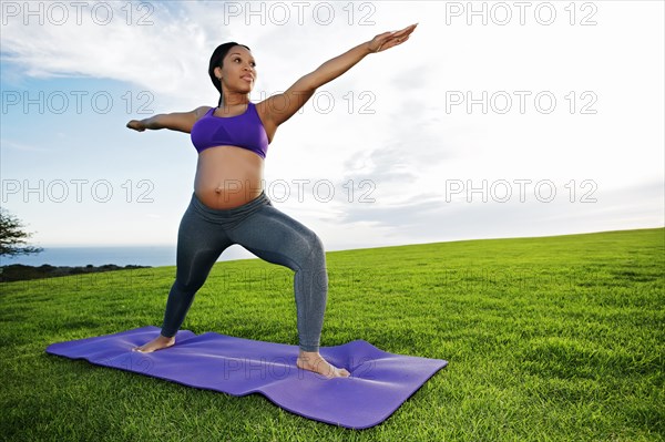
[[[379,34],[321,64],[286,92],[257,104],[249,102],[256,81],[249,48],[235,42],[222,44],[213,52],[208,69],[219,91],[217,107],[201,106],[127,123],[139,132],[170,129],[191,133],[198,151],[194,193],[178,228],[176,278],[168,292],[162,331],[134,350],[151,352],[175,343],[175,333],[211,268],[224,249],[239,244],[262,259],[295,270],[297,367],[328,378],[349,376],[319,354],[328,288],[324,247],[314,232],[273,207],[263,189],[264,158],[277,127],[317,88],[366,55],[403,43],[416,25]]]

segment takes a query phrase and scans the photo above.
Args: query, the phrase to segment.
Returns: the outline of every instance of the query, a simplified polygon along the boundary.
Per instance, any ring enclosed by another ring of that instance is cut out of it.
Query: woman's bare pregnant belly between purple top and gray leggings
[[[211,208],[234,208],[263,192],[264,160],[234,146],[211,147],[198,154],[194,193]]]

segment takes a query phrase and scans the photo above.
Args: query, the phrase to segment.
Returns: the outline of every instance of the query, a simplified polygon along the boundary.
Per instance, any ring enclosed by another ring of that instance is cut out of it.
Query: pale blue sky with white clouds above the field
[[[266,194],[327,250],[662,227],[664,2],[1,2],[1,206],[53,246],[175,245],[188,134],[126,122],[250,101],[418,22],[277,130]],[[246,253],[249,255],[248,253]]]

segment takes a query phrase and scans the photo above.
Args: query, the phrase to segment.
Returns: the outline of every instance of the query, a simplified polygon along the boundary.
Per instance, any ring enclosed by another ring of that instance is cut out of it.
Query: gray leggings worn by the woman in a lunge
[[[299,347],[304,351],[318,351],[328,292],[321,240],[273,207],[265,193],[231,209],[207,207],[196,194],[192,195],[177,234],[177,270],[168,292],[162,336],[175,336],[211,268],[233,244],[268,263],[295,270]]]

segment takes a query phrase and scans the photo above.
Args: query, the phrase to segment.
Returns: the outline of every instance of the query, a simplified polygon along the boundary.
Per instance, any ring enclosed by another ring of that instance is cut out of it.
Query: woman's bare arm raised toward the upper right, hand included
[[[290,119],[314,95],[317,88],[335,80],[370,53],[381,52],[409,40],[416,29],[411,24],[400,31],[383,32],[370,41],[358,44],[347,52],[328,60],[315,71],[301,76],[284,93],[273,95],[259,103],[267,120],[277,127]]]

